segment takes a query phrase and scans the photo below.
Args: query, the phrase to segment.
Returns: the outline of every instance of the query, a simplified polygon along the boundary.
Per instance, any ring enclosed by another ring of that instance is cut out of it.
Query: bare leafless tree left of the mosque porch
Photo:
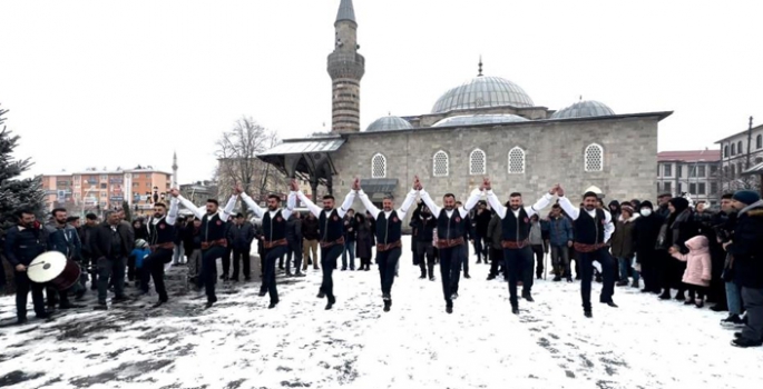
[[[238,119],[231,131],[217,141],[217,181],[221,194],[229,194],[231,187],[241,183],[257,201],[260,196],[283,191],[286,178],[270,163],[257,158],[281,142],[275,131],[260,126],[252,118]]]

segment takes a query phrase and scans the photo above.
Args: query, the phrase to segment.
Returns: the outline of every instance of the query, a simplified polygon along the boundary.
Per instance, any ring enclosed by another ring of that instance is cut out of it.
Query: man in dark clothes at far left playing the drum
[[[38,319],[50,317],[45,311],[42,297],[43,285],[32,282],[27,275],[27,267],[32,260],[45,252],[40,223],[35,220],[35,212],[29,208],[21,208],[16,212],[18,225],[6,231],[6,259],[14,270],[16,278],[16,317],[19,325],[27,322],[27,296],[32,292],[32,303]]]

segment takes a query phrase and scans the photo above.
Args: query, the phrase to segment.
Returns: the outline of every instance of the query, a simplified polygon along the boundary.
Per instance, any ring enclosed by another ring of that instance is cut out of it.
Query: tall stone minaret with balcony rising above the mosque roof
[[[334,52],[329,56],[331,132],[359,132],[360,80],[365,72],[365,59],[358,53],[358,23],[352,0],[342,0],[340,3],[334,30]]]

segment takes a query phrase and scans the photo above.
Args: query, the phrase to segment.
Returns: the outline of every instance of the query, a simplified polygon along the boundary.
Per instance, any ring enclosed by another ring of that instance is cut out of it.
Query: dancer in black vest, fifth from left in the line
[[[376,262],[381,277],[384,312],[389,312],[390,307],[392,307],[392,283],[394,282],[395,268],[402,255],[402,221],[415,201],[417,192],[415,189],[411,189],[398,210],[393,208],[394,199],[392,196],[387,194],[382,200],[382,210],[380,210],[361,189],[360,179],[356,178],[352,183],[352,190],[360,197],[365,210],[376,219]]]

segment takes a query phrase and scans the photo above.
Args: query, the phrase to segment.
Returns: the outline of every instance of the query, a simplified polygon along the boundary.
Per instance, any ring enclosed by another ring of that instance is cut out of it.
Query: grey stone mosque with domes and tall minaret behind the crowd
[[[414,176],[434,197],[466,196],[489,176],[493,190],[526,202],[559,182],[573,201],[595,187],[612,199],[654,199],[657,129],[673,112],[615,113],[598,101],[558,111],[537,104],[517,83],[479,74],[448,89],[431,112],[388,116],[360,128],[365,59],[358,52],[352,0],[341,0],[329,56],[332,131],[286,139],[258,156],[287,177],[344,196],[355,177],[374,202],[403,198]],[[577,194],[577,196],[576,196]]]

